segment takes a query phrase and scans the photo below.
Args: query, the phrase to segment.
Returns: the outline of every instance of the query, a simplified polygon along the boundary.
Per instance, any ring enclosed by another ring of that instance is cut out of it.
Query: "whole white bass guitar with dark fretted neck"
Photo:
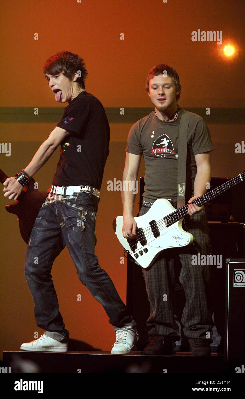
[[[244,179],[245,172],[195,199],[193,203],[202,206]],[[188,214],[187,210],[188,205],[176,210],[167,199],[159,198],[145,215],[134,217],[137,223],[136,238],[127,240],[123,237],[123,216],[113,219],[113,229],[125,251],[141,267],[146,268],[152,265],[164,249],[184,247],[192,243],[192,234],[182,228],[183,217]]]

